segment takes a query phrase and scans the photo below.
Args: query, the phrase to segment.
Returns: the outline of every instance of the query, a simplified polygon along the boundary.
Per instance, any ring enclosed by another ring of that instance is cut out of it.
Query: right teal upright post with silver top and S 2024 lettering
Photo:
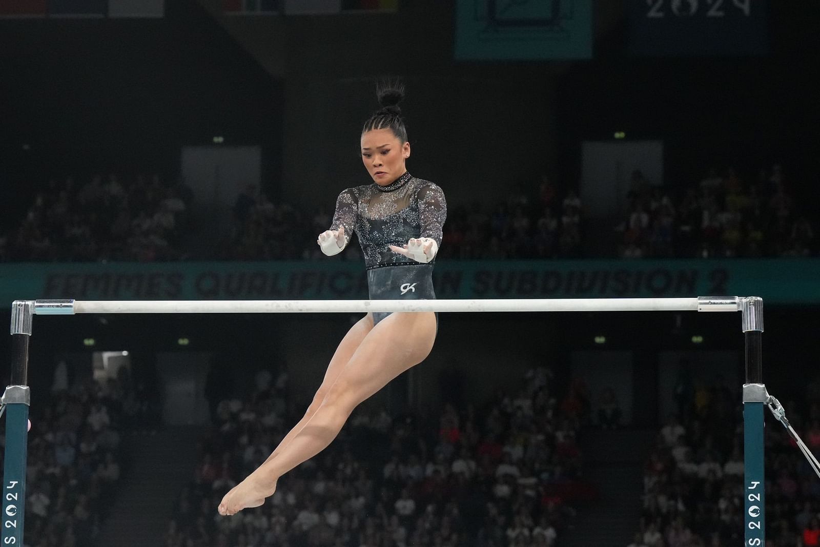
[[[746,343],[743,385],[743,507],[746,547],[766,545],[766,480],[763,460],[763,409],[768,393],[763,385],[763,300],[740,302]]]

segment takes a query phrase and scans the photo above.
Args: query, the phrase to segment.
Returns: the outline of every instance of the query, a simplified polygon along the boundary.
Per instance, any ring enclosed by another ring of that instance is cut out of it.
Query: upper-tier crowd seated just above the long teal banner
[[[21,226],[0,235],[0,261],[323,258],[315,241],[331,225],[330,206],[310,213],[273,203],[250,185],[236,199],[225,235],[192,252],[193,199],[187,186],[165,184],[157,175],[94,175],[81,184],[72,177],[50,180]],[[731,167],[711,169],[699,183],[682,187],[650,184],[635,171],[616,240],[608,241],[606,234],[587,233],[576,190],[543,176],[535,185],[517,185],[501,203],[449,203],[440,257],[816,256],[812,211],[795,203],[778,165],[752,177]],[[355,243],[339,257],[360,258]]]

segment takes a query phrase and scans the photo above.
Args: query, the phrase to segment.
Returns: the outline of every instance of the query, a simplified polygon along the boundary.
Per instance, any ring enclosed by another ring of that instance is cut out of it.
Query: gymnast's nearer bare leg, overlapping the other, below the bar
[[[353,408],[427,357],[433,348],[435,330],[432,312],[397,312],[374,326],[302,430],[281,447],[276,458],[269,458],[225,495],[219,512],[232,515],[263,504],[276,490],[280,476],[335,439]]]

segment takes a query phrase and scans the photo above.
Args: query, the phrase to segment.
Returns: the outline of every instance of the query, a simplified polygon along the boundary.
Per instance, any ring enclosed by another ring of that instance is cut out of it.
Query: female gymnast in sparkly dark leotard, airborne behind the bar
[[[407,129],[399,103],[403,88],[378,89],[381,109],[362,129],[362,162],[373,183],[339,194],[330,230],[317,244],[341,253],[353,230],[367,267],[371,299],[435,299],[433,262],[441,244],[447,204],[441,189],[408,173]],[[406,243],[405,243],[406,242]],[[276,481],[325,449],[353,408],[430,353],[438,330],[433,312],[372,312],[344,336],[304,417],[265,463],[230,490],[221,515],[258,507]]]

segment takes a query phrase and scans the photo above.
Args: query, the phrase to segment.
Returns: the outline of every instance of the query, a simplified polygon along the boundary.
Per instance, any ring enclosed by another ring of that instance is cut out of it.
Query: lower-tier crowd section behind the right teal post
[[[745,522],[739,394],[719,378],[678,393],[679,411],[659,431],[646,462],[643,517],[629,547],[740,545]],[[820,455],[820,381],[809,385],[805,400],[808,406],[785,403],[787,416]],[[820,481],[786,429],[766,418],[766,547],[820,545]]]

